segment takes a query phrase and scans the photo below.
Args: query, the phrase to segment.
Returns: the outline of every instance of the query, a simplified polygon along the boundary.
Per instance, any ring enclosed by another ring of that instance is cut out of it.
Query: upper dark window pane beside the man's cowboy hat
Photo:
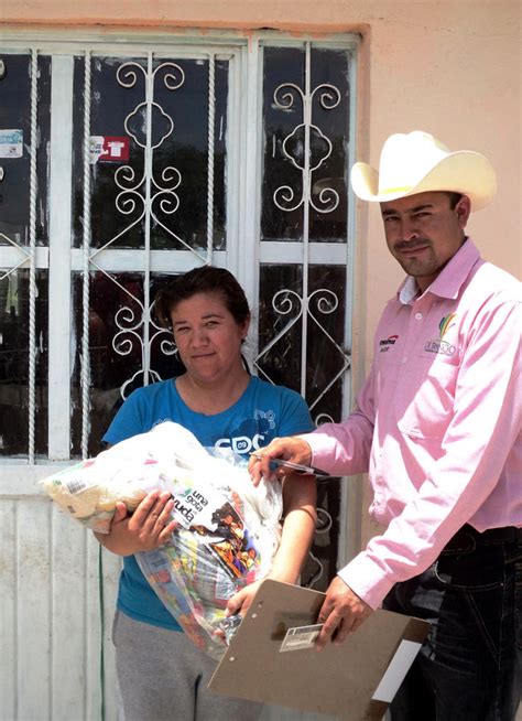
[[[308,95],[305,74],[303,50],[264,49],[261,239],[302,241],[306,230],[309,240],[346,243],[348,54],[312,49]],[[309,122],[303,96],[309,100]],[[311,175],[303,181],[306,155]]]

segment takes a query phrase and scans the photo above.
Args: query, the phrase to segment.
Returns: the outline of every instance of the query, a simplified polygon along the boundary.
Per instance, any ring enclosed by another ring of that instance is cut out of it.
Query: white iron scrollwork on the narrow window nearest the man
[[[280,322],[274,323],[273,336],[262,347],[254,360],[261,376],[268,380],[270,370],[267,370],[268,360],[271,351],[280,345],[291,352],[291,332],[297,324],[301,330],[301,395],[307,397],[307,357],[308,357],[308,334],[311,329],[319,334],[325,343],[326,353],[335,353],[339,357],[339,365],[335,373],[328,378],[323,388],[319,388],[314,398],[307,398],[311,412],[317,413],[315,418],[316,426],[322,422],[333,421],[333,418],[325,412],[319,412],[319,403],[334,385],[341,379],[350,368],[350,356],[342,348],[342,341],[336,340],[326,326],[326,316],[335,314],[339,310],[339,295],[330,288],[320,287],[313,291],[309,289],[309,222],[311,212],[326,216],[336,211],[339,206],[339,193],[330,186],[328,179],[318,177],[318,171],[325,166],[326,161],[331,155],[333,142],[314,122],[314,108],[323,111],[329,111],[337,108],[341,100],[340,90],[330,83],[324,83],[315,88],[311,87],[311,43],[305,43],[304,62],[304,88],[295,83],[282,83],[273,92],[272,108],[289,112],[290,110],[298,111],[301,108],[301,118],[295,127],[284,137],[281,143],[283,162],[289,162],[298,171],[301,175],[300,186],[292,187],[286,181],[285,184],[279,185],[272,195],[275,207],[283,213],[302,212],[303,227],[303,260],[302,260],[302,291],[296,292],[294,289],[283,288],[274,293],[272,298],[272,309]],[[275,148],[275,136],[273,138]],[[317,180],[315,180],[317,177]],[[286,342],[286,346],[285,346]],[[265,367],[263,367],[263,365]],[[338,493],[333,488],[330,503]],[[325,501],[325,503],[328,503]],[[324,546],[322,536],[329,540],[329,534],[333,529],[334,520],[328,509],[317,508],[316,524],[316,546]],[[333,531],[335,534],[335,529]],[[318,550],[318,549],[317,549]],[[311,551],[307,567],[305,570],[306,578],[303,582],[306,585],[324,584],[328,579],[325,578],[325,564],[318,558],[316,551]]]

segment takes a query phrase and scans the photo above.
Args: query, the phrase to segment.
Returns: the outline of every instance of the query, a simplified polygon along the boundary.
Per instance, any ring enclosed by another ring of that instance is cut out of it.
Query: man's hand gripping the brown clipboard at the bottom
[[[372,612],[372,609],[336,575],[328,587],[317,616],[317,623],[323,623],[324,626],[315,647],[320,650],[329,641],[341,644]]]

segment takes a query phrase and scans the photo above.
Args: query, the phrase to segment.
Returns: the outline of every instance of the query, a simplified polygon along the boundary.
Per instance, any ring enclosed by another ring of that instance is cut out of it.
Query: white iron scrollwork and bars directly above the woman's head
[[[185,73],[181,65],[172,61],[165,61],[153,68],[153,54],[149,53],[146,64],[129,61],[120,65],[116,71],[118,84],[134,93],[143,86],[142,98],[138,99],[133,109],[127,115],[123,121],[126,133],[133,140],[135,146],[142,149],[143,164],[142,172],[137,173],[134,166],[123,164],[117,168],[113,174],[113,182],[118,189],[115,198],[115,208],[123,217],[131,216],[124,227],[118,230],[111,238],[106,240],[101,247],[93,249],[89,247],[88,266],[104,273],[118,286],[123,297],[129,298],[129,303],[118,310],[115,315],[117,332],[112,337],[112,348],[121,356],[131,354],[135,347],[141,352],[141,367],[121,385],[120,394],[126,397],[128,389],[132,387],[139,377],[143,383],[160,380],[160,375],[151,368],[151,347],[153,343],[160,342],[160,348],[164,355],[173,355],[175,347],[172,335],[165,329],[156,325],[152,319],[152,304],[150,299],[150,251],[151,251],[151,226],[154,223],[167,235],[177,241],[184,249],[189,250],[197,262],[208,262],[211,256],[211,243],[207,244],[207,254],[202,255],[193,248],[181,235],[165,223],[165,216],[172,216],[180,207],[178,189],[182,185],[182,173],[173,164],[155,168],[155,152],[165,143],[166,139],[175,130],[173,117],[166,111],[156,99],[157,84],[162,83],[170,92],[180,89],[185,83]],[[90,63],[87,64],[90,73]],[[208,213],[209,230],[211,238],[211,215],[214,193],[214,105],[215,105],[215,79],[214,79],[214,56],[209,57],[209,82],[208,82],[208,109],[209,109],[209,138],[208,138]],[[90,98],[90,74],[85,80],[85,97]],[[211,125],[211,128],[210,128]],[[89,139],[88,122],[84,129],[84,138]],[[85,142],[84,166],[88,166],[88,142]],[[164,157],[164,155],[163,155]],[[134,163],[135,165],[135,163]],[[89,181],[85,182],[88,189]],[[89,215],[89,208],[85,207],[85,216]],[[143,277],[143,299],[137,298],[128,288],[121,284],[117,278],[108,273],[98,262],[99,254],[113,246],[118,240],[134,227],[144,225],[145,236],[145,265]],[[88,224],[85,224],[88,226]],[[84,228],[85,230],[85,228]],[[90,245],[90,244],[89,244]],[[88,297],[84,298],[84,313],[87,312]],[[87,337],[87,333],[85,337]],[[88,379],[86,374],[83,378],[83,389],[88,391]],[[85,407],[88,400],[84,399]],[[88,422],[84,420],[85,438],[88,434]]]

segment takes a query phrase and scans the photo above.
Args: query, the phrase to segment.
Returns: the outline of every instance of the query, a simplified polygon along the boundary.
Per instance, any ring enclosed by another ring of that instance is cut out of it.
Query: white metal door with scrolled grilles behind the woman
[[[97,453],[130,389],[172,375],[151,306],[166,275],[228,267],[254,313],[252,369],[317,422],[348,407],[354,50],[227,33],[3,43],[0,718],[116,718],[119,560],[37,480]],[[345,497],[319,495],[304,581],[325,588]]]

